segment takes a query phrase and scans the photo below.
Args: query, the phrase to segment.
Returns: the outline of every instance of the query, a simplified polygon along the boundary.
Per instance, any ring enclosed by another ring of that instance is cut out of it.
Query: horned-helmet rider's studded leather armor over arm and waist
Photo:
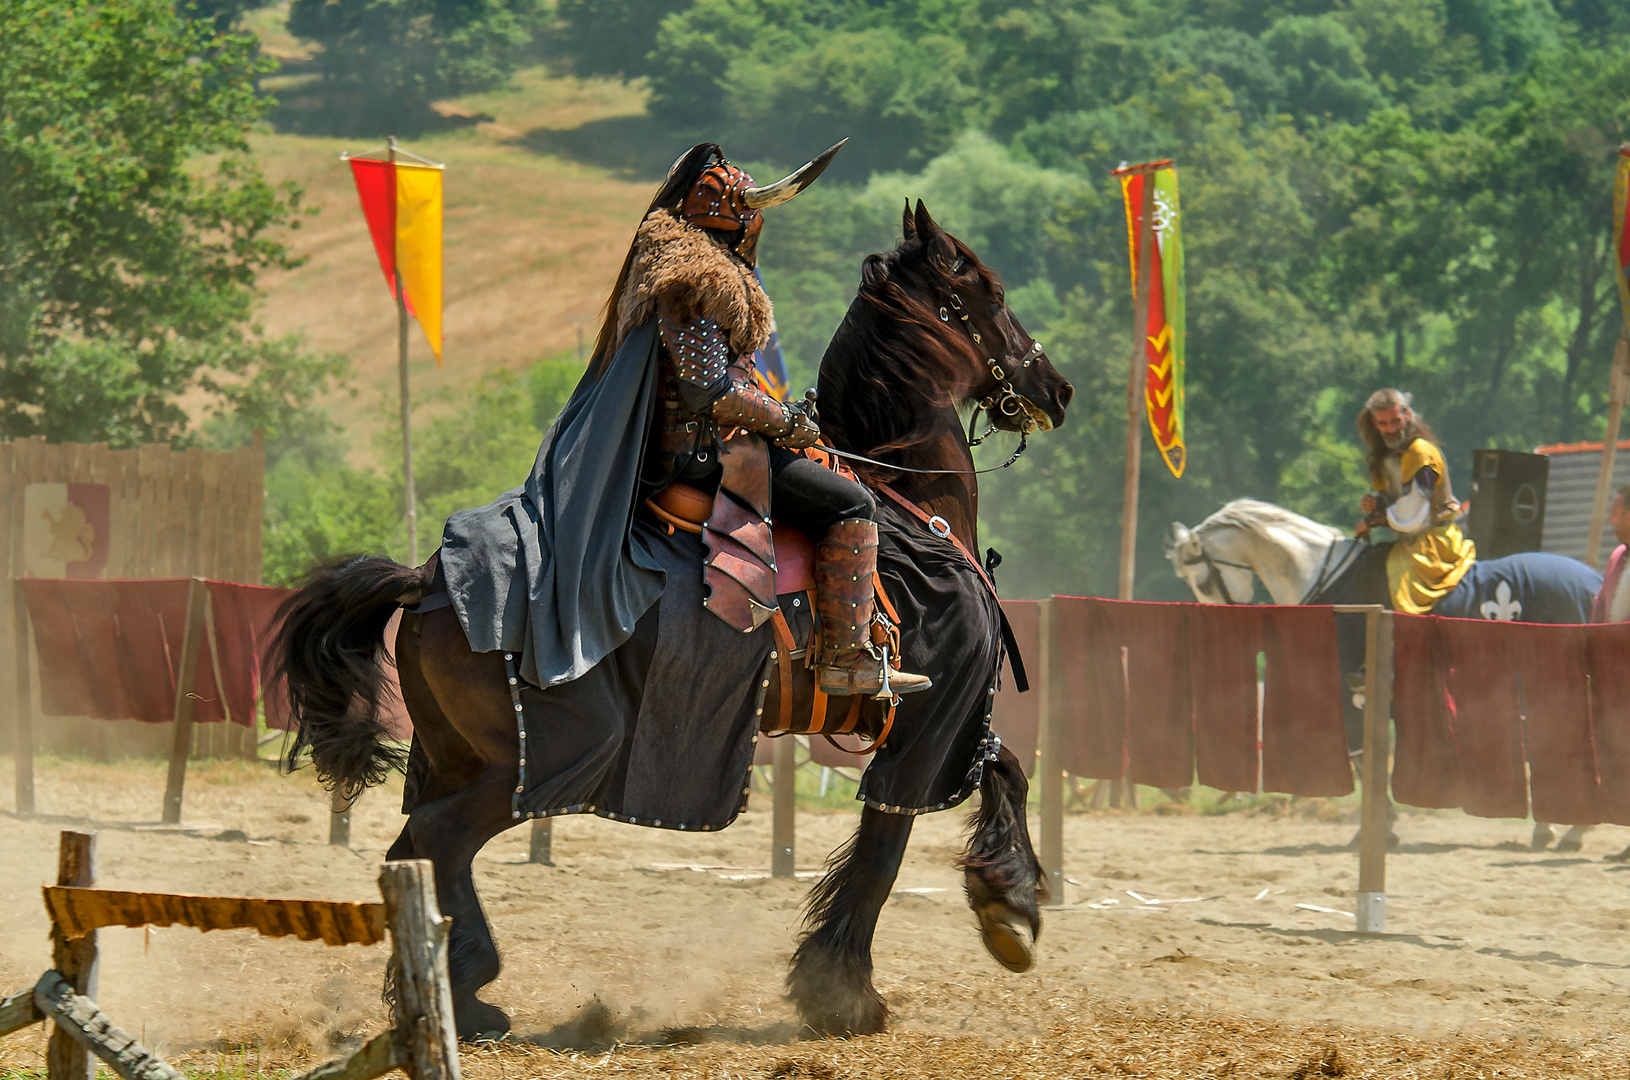
[[[784,446],[813,445],[818,428],[804,414],[753,384],[753,358],[732,355],[711,318],[657,308],[662,339],[662,414],[652,479],[696,476],[717,461],[719,432],[758,432]]]

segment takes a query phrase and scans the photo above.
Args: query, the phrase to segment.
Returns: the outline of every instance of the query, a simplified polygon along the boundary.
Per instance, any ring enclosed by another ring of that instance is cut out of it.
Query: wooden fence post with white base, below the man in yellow
[[[1358,837],[1358,932],[1387,929],[1387,837],[1392,800],[1387,759],[1392,756],[1392,612],[1364,612],[1364,761]]]

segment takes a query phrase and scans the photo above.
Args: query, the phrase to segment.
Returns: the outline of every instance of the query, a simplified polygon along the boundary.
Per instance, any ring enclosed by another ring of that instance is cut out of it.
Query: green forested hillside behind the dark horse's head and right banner
[[[791,205],[764,243],[800,362],[905,194],[1006,275],[1079,391],[1069,424],[986,484],[1009,588],[1113,588],[1120,161],[1177,160],[1188,252],[1190,466],[1146,466],[1139,595],[1180,595],[1161,531],[1226,498],[1350,521],[1351,417],[1379,384],[1416,394],[1462,471],[1474,446],[1601,435],[1627,5],[699,0],[613,18],[624,8],[562,0],[562,59],[649,80],[654,114],[743,158],[852,135],[846,184]]]

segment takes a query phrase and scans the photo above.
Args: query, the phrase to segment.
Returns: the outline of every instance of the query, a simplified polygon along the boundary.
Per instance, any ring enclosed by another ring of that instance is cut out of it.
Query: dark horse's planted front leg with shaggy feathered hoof
[[[877,1034],[888,1026],[888,1005],[872,986],[872,933],[895,888],[911,821],[862,810],[861,828],[810,893],[787,995],[817,1034]]]

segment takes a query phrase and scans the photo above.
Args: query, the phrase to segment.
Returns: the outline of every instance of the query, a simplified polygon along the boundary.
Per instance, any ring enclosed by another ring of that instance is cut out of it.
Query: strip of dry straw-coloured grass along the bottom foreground
[[[1620,1077],[1619,1036],[1588,1041],[1457,1036],[1421,1039],[1353,1030],[1294,1028],[1216,1013],[1175,1013],[1126,1002],[1071,1002],[1074,1016],[1048,1034],[986,1041],[927,1033],[755,1044],[675,1039],[668,1044],[585,1041],[466,1046],[469,1080],[566,1080],[585,1075],[652,1080],[1063,1080],[1237,1077],[1324,1080],[1493,1080]],[[1015,1016],[1042,1020],[1043,1016]],[[290,1046],[290,1051],[293,1047]],[[321,1056],[275,1049],[199,1052],[176,1064],[189,1075],[267,1075],[310,1067]]]

